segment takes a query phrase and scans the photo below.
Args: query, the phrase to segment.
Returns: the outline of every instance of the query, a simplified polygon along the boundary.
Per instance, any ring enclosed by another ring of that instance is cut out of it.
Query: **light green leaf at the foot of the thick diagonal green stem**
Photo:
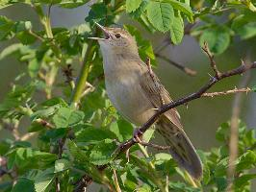
[[[84,119],[84,112],[71,108],[59,108],[53,116],[53,122],[57,128],[67,128],[74,126]]]

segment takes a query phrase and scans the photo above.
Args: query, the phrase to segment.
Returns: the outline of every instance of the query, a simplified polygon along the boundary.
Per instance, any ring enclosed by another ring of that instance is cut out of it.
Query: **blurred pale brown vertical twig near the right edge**
[[[247,73],[244,76],[240,86],[246,86],[250,79],[250,73]],[[228,179],[228,187],[227,191],[232,192],[233,188],[233,177],[235,175],[235,161],[238,157],[238,140],[239,140],[239,117],[242,105],[242,93],[238,93],[235,96],[233,107],[232,107],[232,116],[230,123],[230,140],[229,140],[229,166],[227,170],[227,179]]]

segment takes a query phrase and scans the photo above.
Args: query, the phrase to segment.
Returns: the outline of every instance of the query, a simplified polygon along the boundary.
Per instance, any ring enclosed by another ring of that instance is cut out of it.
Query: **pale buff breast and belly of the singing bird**
[[[155,111],[141,89],[141,68],[135,64],[127,60],[115,64],[105,60],[105,84],[114,107],[132,123],[141,125]]]

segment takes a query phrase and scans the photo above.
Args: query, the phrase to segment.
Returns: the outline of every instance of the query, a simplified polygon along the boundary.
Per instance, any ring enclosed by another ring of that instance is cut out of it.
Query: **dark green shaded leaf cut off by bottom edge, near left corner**
[[[27,192],[34,192],[34,182],[33,180],[28,180],[26,178],[19,178],[11,192],[20,192],[20,191],[27,191]]]

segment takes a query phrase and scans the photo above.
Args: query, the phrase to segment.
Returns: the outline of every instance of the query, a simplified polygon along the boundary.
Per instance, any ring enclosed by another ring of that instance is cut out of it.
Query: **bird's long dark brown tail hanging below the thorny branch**
[[[166,145],[170,146],[170,155],[190,173],[192,178],[201,178],[202,163],[187,134],[167,119],[160,120],[158,125],[158,132],[164,137]]]

